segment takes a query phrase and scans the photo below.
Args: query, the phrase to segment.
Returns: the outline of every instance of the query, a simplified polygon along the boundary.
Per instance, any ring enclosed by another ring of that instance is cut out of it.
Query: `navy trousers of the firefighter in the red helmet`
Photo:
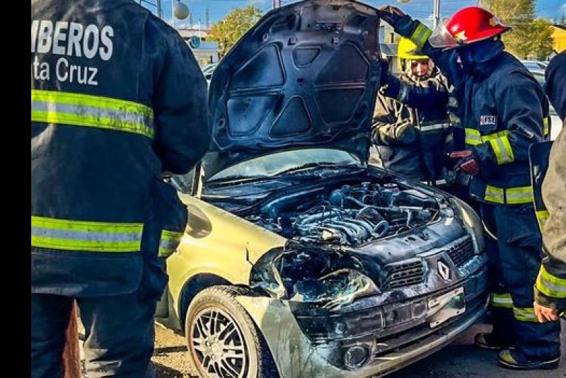
[[[514,345],[529,359],[557,357],[560,322],[539,323],[533,309],[533,285],[542,259],[541,231],[533,205],[481,202],[480,214],[487,228],[493,336]]]

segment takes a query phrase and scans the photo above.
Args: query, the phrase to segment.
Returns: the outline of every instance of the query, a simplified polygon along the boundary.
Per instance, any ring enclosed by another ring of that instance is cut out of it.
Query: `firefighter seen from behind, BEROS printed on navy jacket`
[[[31,3],[31,376],[61,377],[76,300],[88,377],[156,377],[154,312],[209,146],[207,84],[133,0]]]

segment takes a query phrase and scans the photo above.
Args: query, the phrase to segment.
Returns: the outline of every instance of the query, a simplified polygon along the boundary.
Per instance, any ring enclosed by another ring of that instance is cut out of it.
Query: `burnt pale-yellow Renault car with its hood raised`
[[[367,164],[379,21],[283,6],[214,70],[214,142],[171,178],[190,217],[156,313],[201,377],[378,377],[485,312],[475,212]]]

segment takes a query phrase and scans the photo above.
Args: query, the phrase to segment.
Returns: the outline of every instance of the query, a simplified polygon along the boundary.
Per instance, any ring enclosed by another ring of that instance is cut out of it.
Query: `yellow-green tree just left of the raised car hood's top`
[[[219,43],[221,55],[224,56],[261,16],[262,12],[257,6],[233,9],[224,19],[212,25],[208,37]]]

